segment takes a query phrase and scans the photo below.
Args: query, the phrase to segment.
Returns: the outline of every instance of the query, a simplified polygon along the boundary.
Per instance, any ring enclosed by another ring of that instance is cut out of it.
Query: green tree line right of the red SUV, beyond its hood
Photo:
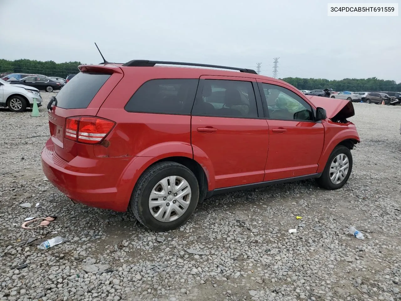
[[[295,86],[300,90],[314,90],[332,88],[334,91],[391,91],[401,92],[401,83],[396,83],[391,80],[370,78],[344,78],[341,80],[328,80],[324,78],[300,78],[286,77],[283,81]]]

